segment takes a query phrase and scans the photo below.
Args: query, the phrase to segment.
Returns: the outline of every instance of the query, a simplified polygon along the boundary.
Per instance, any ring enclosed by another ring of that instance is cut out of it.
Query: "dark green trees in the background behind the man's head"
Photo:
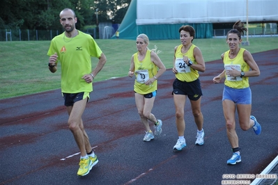
[[[77,29],[98,22],[121,24],[131,0],[1,0],[0,29],[61,29],[59,14],[75,10]]]

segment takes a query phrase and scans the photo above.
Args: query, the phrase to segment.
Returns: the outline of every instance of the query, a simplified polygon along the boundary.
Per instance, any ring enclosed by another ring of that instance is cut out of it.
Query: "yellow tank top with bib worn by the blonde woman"
[[[147,51],[143,61],[138,60],[138,52],[134,54],[135,81],[134,91],[141,95],[146,95],[157,90],[157,80],[146,86],[145,81],[151,79],[157,74],[157,66],[150,59],[150,50]]]

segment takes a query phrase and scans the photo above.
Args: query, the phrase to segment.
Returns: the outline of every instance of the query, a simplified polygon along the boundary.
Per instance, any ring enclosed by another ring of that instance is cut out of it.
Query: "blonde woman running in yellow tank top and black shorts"
[[[162,132],[162,120],[157,120],[151,111],[157,92],[157,79],[166,70],[157,54],[148,49],[148,43],[147,35],[137,36],[138,51],[132,55],[130,71],[128,72],[129,77],[133,77],[135,73],[134,95],[141,122],[146,128],[144,141],[150,141],[154,138],[148,120],[154,124],[155,136],[159,136]],[[157,67],[159,68],[158,72]]]

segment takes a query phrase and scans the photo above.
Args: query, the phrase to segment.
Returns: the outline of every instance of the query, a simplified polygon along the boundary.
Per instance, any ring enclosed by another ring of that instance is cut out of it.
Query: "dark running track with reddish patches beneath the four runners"
[[[226,165],[232,152],[222,111],[224,84],[212,82],[223,70],[219,60],[200,73],[205,144],[194,145],[196,125],[187,100],[182,152],[172,150],[178,136],[171,70],[159,79],[153,108],[163,121],[162,134],[147,143],[134,103],[134,78],[94,83],[83,120],[99,163],[85,177],[76,175],[79,153],[60,90],[1,99],[0,184],[221,184],[224,174],[259,174],[278,154],[278,49],[253,56],[261,76],[249,79],[252,114],[262,133],[242,131],[237,122],[241,163]]]

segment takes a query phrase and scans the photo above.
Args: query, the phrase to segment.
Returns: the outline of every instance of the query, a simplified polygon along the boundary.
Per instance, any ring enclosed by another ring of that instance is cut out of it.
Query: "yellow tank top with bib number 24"
[[[194,48],[196,47],[195,45],[191,45],[190,49],[183,54],[181,52],[183,45],[179,45],[177,50],[176,50],[176,62],[175,62],[175,67],[176,70],[178,70],[178,73],[176,74],[176,78],[179,79],[180,81],[195,81],[196,79],[199,78],[199,73],[197,70],[194,70],[193,68],[189,67],[186,65],[186,63],[183,61],[183,56],[187,56],[192,63],[196,63],[196,59],[194,58]]]

